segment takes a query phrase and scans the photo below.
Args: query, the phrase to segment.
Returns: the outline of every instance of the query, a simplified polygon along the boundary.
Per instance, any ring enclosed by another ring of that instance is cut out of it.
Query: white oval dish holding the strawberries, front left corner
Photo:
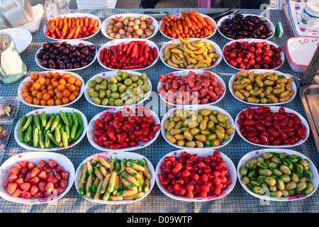
[[[55,160],[59,165],[63,167],[64,170],[69,172],[69,184],[67,185],[67,189],[65,189],[65,192],[62,192],[62,194],[58,196],[50,196],[48,198],[43,199],[35,199],[33,196],[30,197],[30,199],[23,199],[22,197],[13,198],[10,194],[6,192],[6,188],[2,186],[4,182],[6,181],[7,177],[9,176],[9,172],[7,170],[11,169],[13,165],[18,164],[20,161],[27,160],[28,162],[35,162],[36,165],[38,165],[38,162],[40,160]],[[73,163],[65,157],[65,155],[60,155],[58,153],[52,153],[52,152],[26,152],[26,153],[19,153],[18,155],[14,155],[13,157],[10,157],[8,160],[6,160],[0,167],[0,196],[3,199],[6,199],[7,201],[12,201],[13,203],[17,204],[47,204],[52,201],[57,201],[57,199],[61,199],[67,192],[69,192],[69,189],[71,189],[73,183],[74,183],[74,166]]]

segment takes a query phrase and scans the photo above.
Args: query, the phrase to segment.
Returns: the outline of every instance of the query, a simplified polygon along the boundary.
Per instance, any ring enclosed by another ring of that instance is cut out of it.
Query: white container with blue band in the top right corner
[[[300,28],[318,29],[319,28],[319,1],[308,0],[299,18]]]

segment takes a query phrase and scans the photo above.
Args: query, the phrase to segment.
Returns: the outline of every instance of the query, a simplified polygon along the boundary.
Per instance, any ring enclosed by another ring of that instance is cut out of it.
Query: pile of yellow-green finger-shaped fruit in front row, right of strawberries
[[[105,160],[97,157],[82,165],[79,194],[94,200],[138,199],[150,190],[152,175],[145,159]]]

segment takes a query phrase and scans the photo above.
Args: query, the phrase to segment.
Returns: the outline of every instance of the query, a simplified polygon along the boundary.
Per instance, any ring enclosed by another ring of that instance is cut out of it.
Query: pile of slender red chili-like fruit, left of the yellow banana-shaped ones
[[[152,48],[146,41],[132,41],[103,48],[100,62],[116,70],[135,70],[147,67],[158,57],[157,48]]]

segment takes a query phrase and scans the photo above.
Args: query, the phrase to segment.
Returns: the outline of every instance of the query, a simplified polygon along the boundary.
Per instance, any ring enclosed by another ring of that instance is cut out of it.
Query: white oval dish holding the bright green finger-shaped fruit
[[[46,114],[57,114],[61,111],[69,112],[69,113],[73,113],[73,111],[75,113],[79,113],[82,117],[82,121],[83,121],[83,126],[84,126],[84,130],[82,132],[81,137],[79,138],[79,140],[75,141],[74,143],[69,144],[69,146],[67,148],[72,148],[74,145],[77,145],[77,143],[79,143],[83,138],[84,135],[86,134],[86,128],[87,128],[87,120],[86,120],[86,116],[79,110],[77,109],[73,109],[73,108],[69,108],[69,107],[58,107],[58,106],[52,106],[49,108],[43,108],[43,109],[36,109],[34,111],[30,111],[28,114],[26,114],[26,116],[28,117],[30,114],[41,114],[42,112],[45,112]],[[14,138],[16,139],[16,143],[18,143],[18,145],[20,145],[22,148],[25,148],[26,150],[38,150],[38,151],[53,151],[53,150],[64,150],[64,147],[53,147],[50,146],[50,148],[35,148],[31,145],[28,145],[28,143],[21,143],[21,141],[19,140],[19,136],[18,136],[18,131],[19,131],[19,124],[20,124],[21,119],[18,121],[18,123],[16,123],[16,128],[14,128]]]

